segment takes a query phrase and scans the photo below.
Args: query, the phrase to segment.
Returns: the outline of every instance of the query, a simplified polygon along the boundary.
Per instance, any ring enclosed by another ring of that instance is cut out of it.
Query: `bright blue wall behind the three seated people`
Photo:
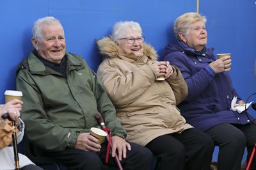
[[[101,58],[95,40],[109,35],[115,22],[140,22],[146,42],[161,56],[164,46],[174,39],[174,20],[185,12],[196,12],[196,0],[1,0],[0,103],[4,103],[6,89],[15,89],[16,67],[33,49],[31,27],[40,17],[59,19],[67,50],[83,56],[96,71]],[[201,0],[199,13],[207,17],[207,47],[215,47],[215,54],[232,53],[230,74],[237,92],[246,100],[256,92],[255,0]]]

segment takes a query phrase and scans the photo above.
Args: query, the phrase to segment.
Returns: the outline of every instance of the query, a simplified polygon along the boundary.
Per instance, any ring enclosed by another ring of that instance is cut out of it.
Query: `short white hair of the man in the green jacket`
[[[62,27],[60,20],[55,19],[54,17],[44,17],[44,18],[36,20],[36,22],[34,23],[33,28],[32,28],[32,33],[33,33],[33,37],[38,42],[41,42],[41,38],[42,38],[41,37],[42,36],[41,26],[44,24],[47,24],[47,25],[55,25],[56,24],[56,25],[60,25]],[[63,29],[63,27],[62,27],[62,29]],[[63,31],[64,31],[64,29],[63,29]]]

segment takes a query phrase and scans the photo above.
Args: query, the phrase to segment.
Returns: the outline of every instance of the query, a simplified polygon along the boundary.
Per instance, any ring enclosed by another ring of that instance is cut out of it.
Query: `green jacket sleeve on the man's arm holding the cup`
[[[23,93],[21,117],[26,124],[28,139],[37,147],[48,151],[74,148],[79,134],[51,123],[45,112],[40,89],[37,88],[33,75],[28,70],[19,71],[16,86]]]

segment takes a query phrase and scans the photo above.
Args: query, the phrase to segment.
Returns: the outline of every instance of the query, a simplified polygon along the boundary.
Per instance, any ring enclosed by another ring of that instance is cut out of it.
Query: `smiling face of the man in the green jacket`
[[[63,28],[60,24],[41,26],[41,41],[32,38],[32,43],[42,58],[52,63],[60,63],[65,56],[66,42]]]

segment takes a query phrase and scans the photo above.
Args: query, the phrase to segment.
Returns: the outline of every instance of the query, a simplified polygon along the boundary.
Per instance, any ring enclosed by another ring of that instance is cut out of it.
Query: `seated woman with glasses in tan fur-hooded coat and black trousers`
[[[111,36],[97,41],[105,58],[97,71],[127,130],[127,140],[157,155],[158,169],[209,170],[214,144],[186,123],[176,105],[188,94],[179,69],[157,62],[138,22],[117,22]],[[164,76],[163,81],[156,81]]]

